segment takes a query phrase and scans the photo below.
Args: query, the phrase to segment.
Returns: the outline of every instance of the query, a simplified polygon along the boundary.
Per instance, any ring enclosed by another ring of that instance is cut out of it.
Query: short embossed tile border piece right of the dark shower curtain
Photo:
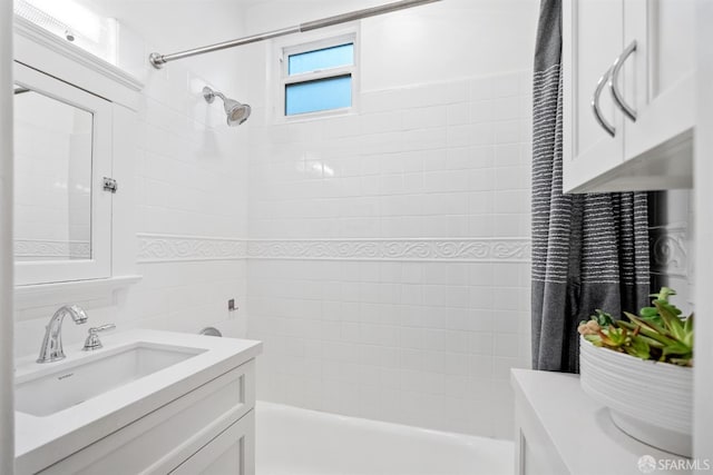
[[[656,226],[648,229],[651,271],[691,279],[688,228],[685,224]]]

